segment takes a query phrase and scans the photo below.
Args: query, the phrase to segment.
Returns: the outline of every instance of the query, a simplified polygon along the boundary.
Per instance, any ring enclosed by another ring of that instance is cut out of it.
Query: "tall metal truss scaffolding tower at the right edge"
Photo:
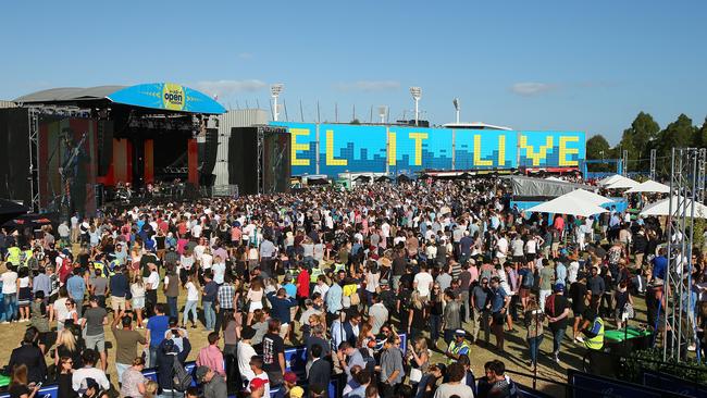
[[[684,359],[684,346],[696,343],[692,310],[692,242],[695,200],[699,200],[699,176],[704,176],[705,150],[673,148],[670,201],[667,220],[668,270],[666,272],[666,314],[663,360]],[[702,167],[702,169],[700,169]],[[704,181],[702,182],[704,185]]]

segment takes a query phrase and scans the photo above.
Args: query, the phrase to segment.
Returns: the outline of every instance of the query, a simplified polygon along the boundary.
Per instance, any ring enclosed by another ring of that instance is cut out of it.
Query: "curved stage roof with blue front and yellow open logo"
[[[136,86],[98,86],[50,88],[16,98],[15,102],[63,103],[82,105],[108,100],[132,107],[174,112],[220,114],[226,110],[208,95],[174,83],[149,83]]]

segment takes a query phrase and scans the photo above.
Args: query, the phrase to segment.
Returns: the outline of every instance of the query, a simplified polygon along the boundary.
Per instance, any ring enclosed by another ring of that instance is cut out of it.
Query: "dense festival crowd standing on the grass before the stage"
[[[3,231],[0,316],[12,325],[0,331],[27,326],[10,394],[57,383],[61,397],[328,397],[340,380],[350,398],[516,397],[501,361],[509,335],[525,334],[532,371],[545,336],[548,363],[568,345],[592,358],[605,326],[636,316],[637,296],[647,316],[636,324],[662,327],[659,220],[615,209],[548,219],[507,194],[493,179],[311,188]],[[705,347],[703,252],[684,270],[693,349]],[[195,328],[208,332],[203,347]],[[306,347],[303,371],[289,370],[287,346]],[[473,346],[494,351],[485,374],[471,371]]]

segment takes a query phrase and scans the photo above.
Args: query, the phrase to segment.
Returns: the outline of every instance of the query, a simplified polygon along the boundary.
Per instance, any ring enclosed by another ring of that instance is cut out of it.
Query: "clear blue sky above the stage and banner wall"
[[[63,86],[176,82],[289,120],[388,105],[616,144],[640,111],[707,115],[704,1],[3,2],[0,99]]]

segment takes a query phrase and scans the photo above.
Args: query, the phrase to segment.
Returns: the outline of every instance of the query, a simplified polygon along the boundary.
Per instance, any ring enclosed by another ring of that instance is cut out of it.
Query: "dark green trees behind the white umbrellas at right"
[[[628,172],[650,171],[650,151],[656,150],[656,174],[667,176],[670,173],[670,159],[672,148],[705,148],[707,147],[707,117],[702,126],[693,125],[685,114],[660,128],[649,113],[641,112],[623,130],[621,141],[611,148],[606,138],[597,134],[586,140],[587,160],[621,159],[623,151],[628,151]],[[590,171],[610,172],[616,170],[616,164],[593,164]]]

